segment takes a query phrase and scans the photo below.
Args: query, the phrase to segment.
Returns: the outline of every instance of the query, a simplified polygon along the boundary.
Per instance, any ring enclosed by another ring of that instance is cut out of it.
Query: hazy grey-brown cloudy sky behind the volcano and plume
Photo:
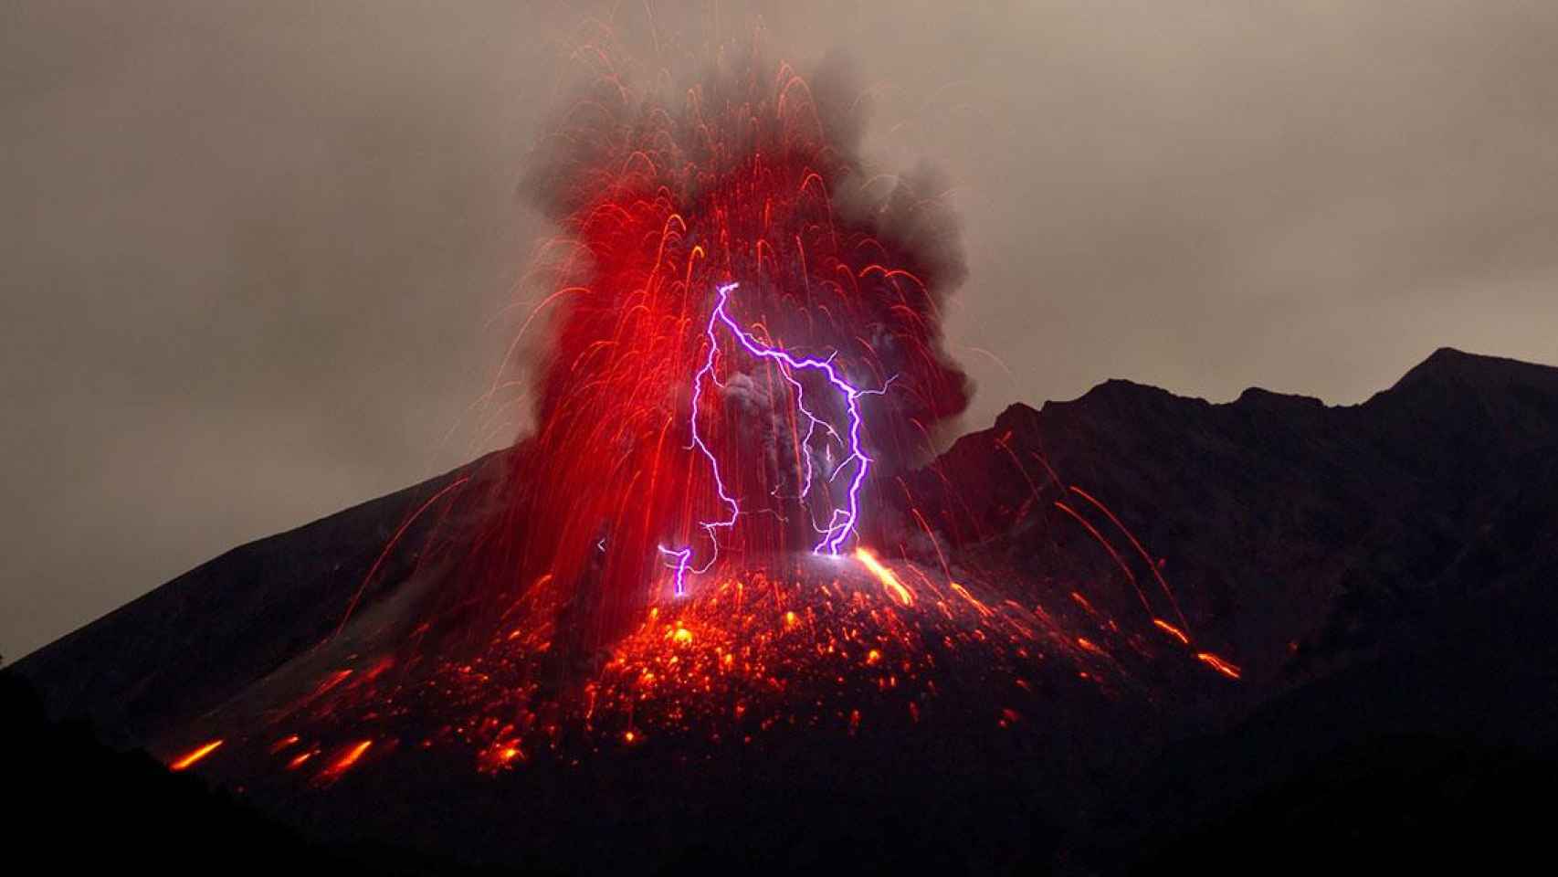
[[[0,653],[513,436],[472,408],[586,12],[843,50],[957,184],[983,427],[1109,377],[1349,403],[1558,363],[1558,3],[12,0]]]

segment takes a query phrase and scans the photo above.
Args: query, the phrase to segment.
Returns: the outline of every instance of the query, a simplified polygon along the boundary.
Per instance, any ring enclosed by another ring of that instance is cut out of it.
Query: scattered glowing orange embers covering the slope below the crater
[[[1150,662],[1239,674],[1161,618],[1122,626],[1080,592],[1047,609],[866,550],[710,579],[676,597],[667,578],[640,625],[594,656],[564,654],[552,625],[499,632],[460,660],[355,656],[171,766],[245,752],[251,766],[327,787],[400,746],[466,752],[494,773],[651,743],[698,752],[774,735],[910,731],[938,710],[1020,734],[1025,717],[1047,709],[1056,673],[1102,698],[1142,701],[1151,692],[1136,668]],[[983,698],[972,712],[960,699],[968,692]]]

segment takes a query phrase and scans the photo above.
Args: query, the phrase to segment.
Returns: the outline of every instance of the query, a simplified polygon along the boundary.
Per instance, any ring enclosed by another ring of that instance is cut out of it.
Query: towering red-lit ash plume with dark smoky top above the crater
[[[590,83],[522,185],[556,237],[517,379],[536,427],[505,502],[525,525],[497,575],[600,587],[612,598],[592,623],[614,629],[664,578],[667,545],[704,569],[721,550],[809,547],[855,503],[866,460],[876,480],[930,455],[971,396],[941,322],[966,268],[941,178],[863,156],[869,104],[841,58],[802,76],[728,47],[686,84],[640,86],[631,64],[584,55]],[[710,352],[728,284],[743,330],[869,394],[858,453],[818,375]]]

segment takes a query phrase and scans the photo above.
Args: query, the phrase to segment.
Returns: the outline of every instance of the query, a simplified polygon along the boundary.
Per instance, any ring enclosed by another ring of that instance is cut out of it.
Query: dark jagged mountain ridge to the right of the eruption
[[[1441,349],[1360,405],[1264,389],[1209,403],[1123,380],[1013,405],[936,463],[955,477],[918,486],[936,508],[938,483],[964,484],[944,517],[1033,565],[1013,509],[1035,483],[1044,498],[1084,484],[1167,561],[1192,626],[1246,679],[1285,687],[1558,569],[1555,450],[1558,369]]]

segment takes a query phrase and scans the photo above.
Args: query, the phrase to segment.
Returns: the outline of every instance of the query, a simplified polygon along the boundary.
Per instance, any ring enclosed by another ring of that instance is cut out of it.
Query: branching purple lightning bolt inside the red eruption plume
[[[709,569],[714,565],[715,559],[718,559],[720,555],[720,541],[717,537],[717,531],[735,527],[735,519],[740,517],[742,514],[740,503],[735,500],[735,497],[729,495],[724,491],[724,480],[720,477],[720,461],[715,460],[714,452],[709,450],[709,446],[704,444],[703,436],[698,433],[698,402],[703,397],[703,379],[704,375],[707,375],[710,380],[718,383],[718,380],[714,377],[714,363],[720,354],[720,340],[717,335],[717,329],[721,324],[731,333],[731,336],[734,336],[742,344],[742,347],[746,349],[748,354],[760,360],[770,360],[779,363],[781,372],[784,374],[785,380],[788,380],[790,385],[795,386],[798,391],[796,403],[801,410],[801,414],[804,414],[809,421],[805,431],[807,436],[805,442],[810,441],[812,433],[816,428],[816,424],[823,424],[823,428],[827,430],[827,433],[832,435],[835,439],[838,439],[838,430],[835,430],[832,424],[823,421],[821,417],[818,417],[816,414],[813,414],[810,410],[805,408],[804,402],[805,397],[801,393],[801,383],[795,379],[793,372],[796,371],[823,372],[823,375],[827,379],[827,383],[832,385],[844,399],[844,408],[849,414],[849,428],[848,428],[849,456],[846,456],[843,461],[838,463],[838,466],[834,467],[834,470],[827,477],[829,483],[837,480],[838,474],[843,472],[844,467],[849,466],[851,463],[855,463],[857,466],[854,469],[852,478],[849,480],[849,491],[846,494],[848,498],[844,506],[834,509],[832,516],[827,520],[826,528],[816,527],[815,520],[812,522],[812,528],[821,534],[821,541],[812,548],[813,553],[837,556],[843,550],[844,542],[848,542],[851,536],[857,534],[855,520],[858,520],[860,516],[860,486],[865,483],[866,472],[871,469],[871,458],[866,456],[865,450],[862,450],[860,447],[860,424],[862,424],[860,397],[880,396],[887,393],[888,385],[893,383],[893,380],[888,379],[888,382],[882,385],[880,389],[858,389],[852,386],[848,380],[844,380],[841,374],[838,374],[838,369],[834,366],[834,357],[837,354],[829,355],[826,360],[818,360],[815,357],[795,357],[790,352],[784,350],[782,347],[773,347],[763,344],[751,332],[742,329],[742,326],[735,322],[735,319],[726,308],[726,305],[731,301],[731,293],[735,291],[737,287],[740,287],[740,284],[724,284],[715,288],[714,310],[709,313],[707,326],[704,326],[704,336],[707,336],[709,340],[709,354],[704,357],[703,366],[698,369],[698,374],[695,374],[692,379],[692,417],[690,417],[692,447],[696,449],[704,456],[704,460],[709,461],[709,470],[714,474],[715,492],[718,494],[720,502],[729,509],[731,514],[729,517],[721,520],[700,523],[700,527],[703,527],[703,530],[709,534],[710,542],[714,542],[714,551],[709,555],[707,562],[704,562],[701,567],[695,567],[692,564],[693,551],[690,545],[681,548],[667,548],[664,545],[659,547],[661,555],[670,561],[667,565],[676,570],[676,579],[675,579],[676,595],[686,593],[689,572],[692,573],[709,572]],[[805,442],[802,442],[802,449],[805,447]],[[840,442],[843,444],[843,439],[840,439]],[[810,453],[805,453],[804,456],[805,456],[805,481],[801,489],[802,498],[812,489]]]

